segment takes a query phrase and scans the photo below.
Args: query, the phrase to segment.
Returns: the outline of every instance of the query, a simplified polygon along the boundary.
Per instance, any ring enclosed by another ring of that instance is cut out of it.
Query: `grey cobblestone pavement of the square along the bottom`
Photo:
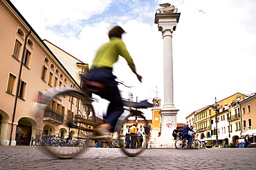
[[[127,157],[118,148],[90,148],[61,160],[37,147],[0,147],[0,169],[256,169],[256,148],[147,149]]]

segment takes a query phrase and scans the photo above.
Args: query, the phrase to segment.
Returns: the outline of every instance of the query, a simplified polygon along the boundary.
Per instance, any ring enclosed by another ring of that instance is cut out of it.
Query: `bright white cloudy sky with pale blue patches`
[[[255,0],[11,1],[41,39],[84,63],[92,63],[111,26],[122,26],[127,32],[123,40],[143,76],[138,83],[120,58],[114,73],[134,86],[121,87],[123,96],[133,92],[138,100],[152,101],[157,95],[163,103],[163,39],[154,14],[160,3],[174,5],[181,12],[172,39],[177,123],[214,103],[215,96],[222,100],[237,92],[256,92]],[[146,112],[151,118],[151,109]]]

